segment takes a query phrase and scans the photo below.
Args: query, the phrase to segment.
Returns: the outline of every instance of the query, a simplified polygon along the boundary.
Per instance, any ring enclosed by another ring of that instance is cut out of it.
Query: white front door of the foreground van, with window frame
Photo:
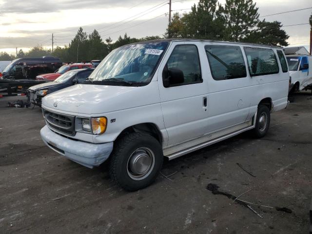
[[[197,137],[207,130],[207,79],[202,78],[199,43],[173,42],[159,66],[157,81],[168,146]],[[182,71],[182,82],[164,86],[163,73]]]

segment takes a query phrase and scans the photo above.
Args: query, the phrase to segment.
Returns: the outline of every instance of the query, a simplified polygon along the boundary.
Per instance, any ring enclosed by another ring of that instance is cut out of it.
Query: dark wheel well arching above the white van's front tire
[[[151,135],[152,137],[155,137],[156,140],[162,145],[162,135],[161,135],[158,127],[154,123],[139,123],[139,124],[130,126],[130,127],[126,128],[126,129],[124,129],[119,134],[117,139],[120,138],[120,137],[123,137],[126,134],[136,133],[136,132],[145,133],[145,134]]]

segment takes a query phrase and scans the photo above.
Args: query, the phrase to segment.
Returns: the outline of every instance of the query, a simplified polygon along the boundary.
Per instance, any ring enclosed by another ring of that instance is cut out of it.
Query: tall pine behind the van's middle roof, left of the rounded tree
[[[242,41],[254,32],[259,14],[253,0],[226,0],[218,7],[216,14],[225,25],[223,40]]]

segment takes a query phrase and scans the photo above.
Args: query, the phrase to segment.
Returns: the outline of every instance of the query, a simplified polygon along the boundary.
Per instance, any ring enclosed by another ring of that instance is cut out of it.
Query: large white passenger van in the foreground
[[[196,39],[112,51],[86,81],[42,99],[43,141],[87,167],[110,159],[126,190],[151,184],[169,160],[247,130],[263,137],[286,108],[282,48]]]

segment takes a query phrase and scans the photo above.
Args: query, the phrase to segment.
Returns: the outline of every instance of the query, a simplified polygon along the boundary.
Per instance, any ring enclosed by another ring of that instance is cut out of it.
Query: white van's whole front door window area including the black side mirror
[[[165,73],[165,79],[169,79],[169,86],[201,83],[197,47],[195,45],[177,45],[171,53],[163,73]]]

